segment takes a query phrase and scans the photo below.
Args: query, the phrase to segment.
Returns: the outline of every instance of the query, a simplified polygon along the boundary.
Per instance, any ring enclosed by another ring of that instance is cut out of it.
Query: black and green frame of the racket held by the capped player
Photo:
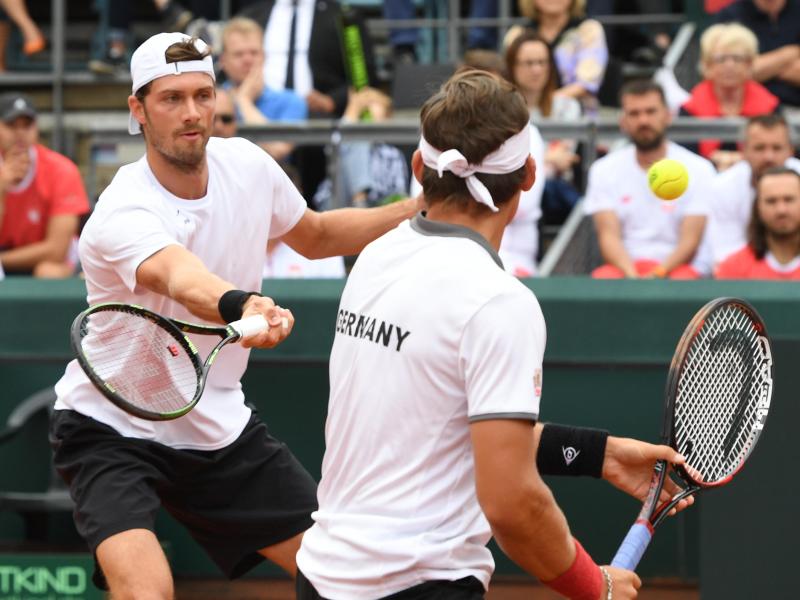
[[[137,315],[139,317],[148,319],[153,324],[161,327],[163,330],[169,333],[175,339],[175,341],[180,344],[181,348],[186,351],[186,354],[188,355],[189,360],[191,360],[192,366],[194,367],[195,374],[197,375],[197,388],[191,402],[178,410],[170,411],[168,413],[145,410],[140,406],[125,400],[125,398],[117,393],[116,389],[114,389],[114,386],[110,385],[103,378],[97,375],[94,367],[92,367],[91,361],[83,352],[83,348],[81,346],[81,340],[83,339],[83,336],[81,335],[81,329],[89,316],[99,312],[121,312]],[[211,350],[206,360],[201,363],[200,354],[198,353],[195,345],[192,343],[192,340],[184,335],[186,333],[217,335],[221,337],[222,340],[214,347],[213,350]],[[158,313],[144,308],[143,306],[139,306],[137,304],[125,304],[121,302],[104,302],[90,306],[81,312],[77,317],[75,317],[75,320],[72,322],[72,326],[70,327],[70,346],[72,347],[72,351],[74,352],[81,369],[84,373],[86,373],[86,376],[95,386],[95,388],[97,388],[97,390],[103,394],[103,396],[108,398],[113,404],[125,412],[148,421],[171,421],[173,419],[177,419],[178,417],[182,417],[191,411],[197,405],[197,403],[200,401],[200,397],[203,395],[206,378],[208,376],[208,370],[211,368],[211,364],[214,362],[217,353],[223,346],[230,342],[237,341],[240,337],[241,335],[239,332],[237,332],[236,329],[230,325],[224,327],[197,325],[195,323],[181,321],[180,319],[168,319],[167,317],[159,315]]]

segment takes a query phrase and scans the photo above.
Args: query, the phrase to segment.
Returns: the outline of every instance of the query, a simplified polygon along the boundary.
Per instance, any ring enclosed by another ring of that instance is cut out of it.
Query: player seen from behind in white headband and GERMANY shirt
[[[483,598],[492,534],[568,598],[633,598],[639,578],[595,564],[541,475],[602,476],[638,496],[657,458],[682,459],[537,424],[544,318],[497,254],[535,178],[525,101],[459,72],[423,106],[422,133],[412,166],[427,213],[364,249],[339,305],[298,600]]]

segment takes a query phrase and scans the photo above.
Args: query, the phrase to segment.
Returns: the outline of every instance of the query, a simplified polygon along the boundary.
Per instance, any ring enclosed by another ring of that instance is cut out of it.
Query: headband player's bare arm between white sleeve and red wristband
[[[536,471],[533,424],[487,420],[470,425],[478,502],[503,552],[542,581],[575,560],[567,520]]]

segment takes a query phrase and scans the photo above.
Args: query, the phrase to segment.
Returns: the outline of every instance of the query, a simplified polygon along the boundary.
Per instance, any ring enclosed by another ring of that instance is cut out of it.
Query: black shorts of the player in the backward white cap
[[[114,534],[154,531],[163,505],[233,579],[264,559],[258,550],[308,529],[317,508],[311,475],[255,415],[232,444],[203,451],[124,437],[56,410],[50,444],[92,553]]]

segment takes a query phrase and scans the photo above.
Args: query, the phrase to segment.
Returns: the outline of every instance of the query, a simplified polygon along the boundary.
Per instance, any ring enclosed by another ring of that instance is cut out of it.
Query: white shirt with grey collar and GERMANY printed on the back
[[[319,510],[297,555],[320,594],[488,586],[469,424],[537,418],[545,336],[535,296],[474,231],[418,216],[367,246],[339,305]]]

